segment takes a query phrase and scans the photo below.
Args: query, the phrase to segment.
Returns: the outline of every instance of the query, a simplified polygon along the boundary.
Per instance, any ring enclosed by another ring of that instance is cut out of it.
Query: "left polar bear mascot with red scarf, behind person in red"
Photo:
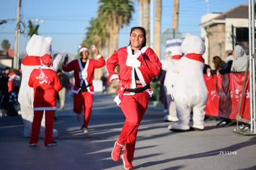
[[[43,37],[33,35],[27,43],[26,51],[28,56],[22,60],[22,80],[20,84],[18,101],[22,115],[24,127],[24,137],[31,137],[32,122],[33,122],[33,88],[28,86],[28,79],[33,69],[41,66],[41,56],[51,54],[51,37]],[[53,61],[53,70],[57,70],[62,56],[58,54]],[[40,137],[45,137],[45,116],[41,122]],[[53,129],[53,137],[58,137],[58,131]]]

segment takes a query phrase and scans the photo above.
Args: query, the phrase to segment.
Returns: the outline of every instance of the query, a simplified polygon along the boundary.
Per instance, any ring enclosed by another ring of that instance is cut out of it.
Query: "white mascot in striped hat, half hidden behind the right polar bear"
[[[171,57],[173,59],[174,64],[179,62],[179,59],[182,57],[181,51],[181,39],[173,39],[168,38],[166,40],[166,55],[168,56],[171,53]],[[164,90],[166,91],[166,101],[168,104],[169,114],[164,116],[164,121],[169,122],[177,122],[177,114],[176,114],[176,106],[173,98],[173,87],[174,81],[176,80],[177,72],[173,72],[168,62],[162,62],[162,69],[166,71],[165,79],[164,79]]]

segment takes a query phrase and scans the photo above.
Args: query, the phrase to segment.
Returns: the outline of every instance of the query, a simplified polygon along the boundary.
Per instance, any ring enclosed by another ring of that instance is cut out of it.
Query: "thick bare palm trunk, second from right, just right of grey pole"
[[[157,54],[158,58],[161,58],[161,17],[162,17],[162,0],[156,0],[154,51]]]

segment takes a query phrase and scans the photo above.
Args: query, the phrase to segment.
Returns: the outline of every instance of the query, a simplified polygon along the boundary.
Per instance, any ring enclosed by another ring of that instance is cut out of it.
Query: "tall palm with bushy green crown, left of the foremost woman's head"
[[[134,2],[132,0],[100,0],[99,2],[98,17],[108,16],[106,20],[109,34],[108,58],[118,47],[119,29],[129,25],[132,19]]]

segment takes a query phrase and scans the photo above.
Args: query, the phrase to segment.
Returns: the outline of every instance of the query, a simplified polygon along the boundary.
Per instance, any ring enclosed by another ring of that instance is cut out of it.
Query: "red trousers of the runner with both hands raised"
[[[83,127],[88,129],[88,123],[90,121],[90,117],[92,115],[92,104],[93,104],[93,94],[85,91],[82,93],[74,94],[74,113],[82,114],[82,111],[85,113],[85,118]]]

